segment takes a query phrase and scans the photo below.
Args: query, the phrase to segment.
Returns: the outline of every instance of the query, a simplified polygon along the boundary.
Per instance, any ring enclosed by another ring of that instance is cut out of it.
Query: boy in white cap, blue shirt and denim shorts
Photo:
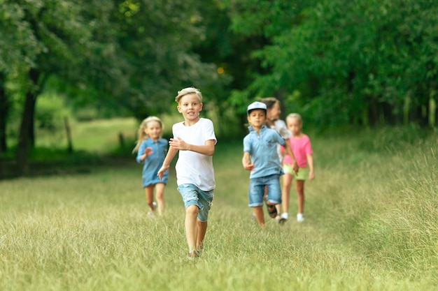
[[[285,145],[285,140],[276,130],[267,128],[267,107],[262,102],[248,106],[248,129],[243,138],[242,165],[250,172],[249,207],[254,208],[255,218],[264,227],[263,195],[267,186],[267,207],[271,217],[276,216],[276,204],[281,204],[280,176],[284,174],[277,154],[277,144]]]

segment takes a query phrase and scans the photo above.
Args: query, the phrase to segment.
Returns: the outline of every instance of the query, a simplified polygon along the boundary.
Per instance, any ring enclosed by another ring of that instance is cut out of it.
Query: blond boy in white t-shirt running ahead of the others
[[[174,124],[174,138],[169,141],[169,151],[158,177],[169,169],[179,151],[176,162],[176,182],[185,204],[185,237],[188,258],[197,258],[202,251],[207,230],[209,210],[216,187],[213,170],[213,153],[216,145],[213,122],[200,118],[202,94],[199,89],[188,87],[178,91],[175,97],[178,112],[184,121]]]

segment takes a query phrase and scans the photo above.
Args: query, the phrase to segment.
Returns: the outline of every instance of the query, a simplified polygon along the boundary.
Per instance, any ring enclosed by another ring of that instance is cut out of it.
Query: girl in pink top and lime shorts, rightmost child
[[[299,170],[294,172],[292,170],[292,160],[287,154],[283,158],[283,191],[281,194],[283,214],[281,217],[288,219],[288,208],[289,208],[289,196],[290,187],[292,186],[292,179],[295,177],[298,195],[298,213],[297,221],[304,221],[304,181],[306,179],[315,179],[315,174],[313,173],[313,156],[312,147],[310,139],[307,135],[301,132],[302,128],[302,118],[297,113],[291,113],[286,117],[286,125],[292,133],[290,136],[290,147],[297,161]]]

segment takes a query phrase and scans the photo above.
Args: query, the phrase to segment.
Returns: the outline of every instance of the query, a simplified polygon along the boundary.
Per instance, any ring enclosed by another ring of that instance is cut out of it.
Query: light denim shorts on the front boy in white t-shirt
[[[209,219],[211,202],[213,201],[213,190],[202,191],[194,184],[181,184],[178,186],[178,192],[181,193],[184,201],[184,207],[197,205],[199,207],[198,219],[205,222]]]

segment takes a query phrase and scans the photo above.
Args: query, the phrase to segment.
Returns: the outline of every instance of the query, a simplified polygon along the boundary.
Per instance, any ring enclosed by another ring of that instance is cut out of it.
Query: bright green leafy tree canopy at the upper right
[[[434,1],[232,2],[233,29],[270,42],[253,54],[268,71],[253,94],[276,94],[318,124],[425,119],[438,79]]]

